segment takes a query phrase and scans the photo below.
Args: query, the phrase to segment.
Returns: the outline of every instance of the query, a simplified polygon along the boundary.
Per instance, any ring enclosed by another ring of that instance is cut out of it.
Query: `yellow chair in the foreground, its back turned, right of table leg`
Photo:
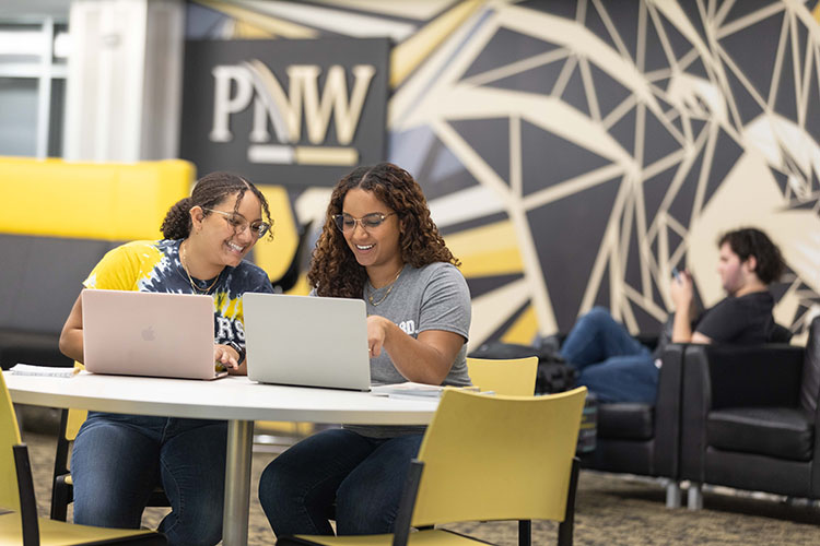
[[[417,546],[485,544],[433,529],[460,521],[561,522],[558,544],[572,544],[578,461],[575,443],[586,388],[549,396],[492,396],[445,390],[411,463],[393,535],[281,537],[305,544]],[[410,532],[412,527],[420,529]],[[430,527],[430,529],[422,529]]]

